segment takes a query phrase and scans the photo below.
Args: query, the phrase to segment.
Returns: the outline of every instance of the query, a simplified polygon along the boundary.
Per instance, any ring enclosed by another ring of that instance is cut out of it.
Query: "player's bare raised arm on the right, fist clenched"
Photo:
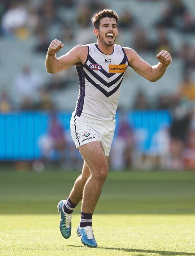
[[[160,79],[165,71],[167,70],[168,65],[171,63],[171,55],[162,50],[159,54],[156,55],[156,58],[159,60],[159,63],[151,66],[149,63],[144,61],[138,54],[131,48],[126,48],[125,52],[129,59],[129,66],[135,70],[139,75],[145,77],[150,82],[156,82]]]

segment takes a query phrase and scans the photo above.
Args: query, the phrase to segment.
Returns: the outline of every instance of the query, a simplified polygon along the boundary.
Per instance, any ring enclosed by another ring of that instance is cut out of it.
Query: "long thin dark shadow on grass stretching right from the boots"
[[[70,247],[83,247],[80,245],[68,245]],[[140,253],[156,253],[158,255],[164,255],[164,256],[175,256],[175,255],[183,255],[183,256],[193,256],[195,253],[191,252],[171,252],[171,251],[155,251],[155,250],[141,250],[141,249],[130,249],[130,248],[117,248],[117,247],[98,247],[97,249],[106,249],[106,250],[118,250],[118,251],[124,251],[124,252],[140,252]],[[137,255],[138,256],[138,255]],[[143,254],[140,254],[140,256],[143,256]]]

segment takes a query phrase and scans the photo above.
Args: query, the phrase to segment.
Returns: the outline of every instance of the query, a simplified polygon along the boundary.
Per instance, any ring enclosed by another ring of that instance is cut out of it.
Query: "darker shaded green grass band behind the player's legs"
[[[0,172],[0,214],[56,213],[79,174]],[[95,213],[195,214],[195,172],[110,172]]]

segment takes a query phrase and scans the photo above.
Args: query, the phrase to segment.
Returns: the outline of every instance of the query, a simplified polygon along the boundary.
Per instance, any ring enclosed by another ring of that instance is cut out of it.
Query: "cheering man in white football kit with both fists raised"
[[[119,16],[103,10],[92,18],[96,44],[78,45],[57,58],[55,54],[64,44],[51,42],[46,69],[57,73],[75,65],[79,77],[79,97],[71,118],[71,134],[83,160],[82,174],[76,179],[67,200],[58,203],[60,231],[64,238],[71,235],[71,217],[75,206],[82,201],[78,236],[84,245],[97,247],[92,231],[92,214],[108,174],[106,157],[115,129],[115,113],[120,86],[128,66],[149,81],[157,81],[171,63],[166,51],[156,55],[159,63],[149,65],[131,48],[115,45]]]

